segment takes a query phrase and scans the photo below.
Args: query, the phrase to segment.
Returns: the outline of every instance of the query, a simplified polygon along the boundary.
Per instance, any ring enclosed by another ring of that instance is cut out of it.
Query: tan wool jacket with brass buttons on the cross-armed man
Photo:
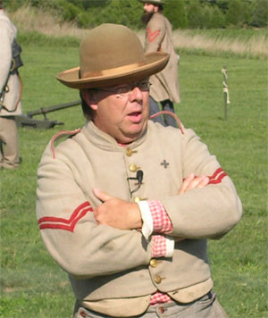
[[[145,312],[156,290],[188,303],[212,288],[206,239],[227,233],[242,207],[230,178],[193,130],[149,121],[141,138],[122,147],[89,121],[58,146],[55,139],[38,166],[38,226],[80,304],[127,317]],[[129,178],[137,169],[144,179],[131,196],[136,181]],[[179,196],[190,172],[210,176],[210,183]],[[160,200],[172,221],[170,237],[185,239],[175,243],[172,257],[152,259],[152,237],[96,224],[92,211],[101,202],[93,188],[130,202]]]

